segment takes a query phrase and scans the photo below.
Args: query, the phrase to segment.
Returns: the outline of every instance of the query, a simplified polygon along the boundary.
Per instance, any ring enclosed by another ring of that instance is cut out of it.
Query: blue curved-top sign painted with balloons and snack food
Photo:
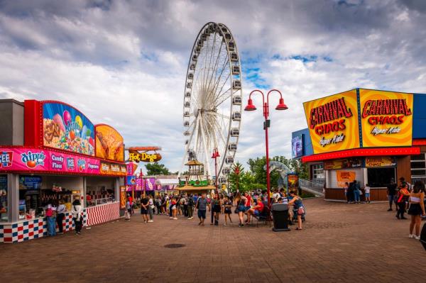
[[[94,126],[72,106],[44,102],[43,145],[94,156]]]

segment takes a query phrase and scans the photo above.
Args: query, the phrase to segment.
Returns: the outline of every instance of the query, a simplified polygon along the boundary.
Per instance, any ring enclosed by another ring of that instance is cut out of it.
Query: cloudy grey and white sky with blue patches
[[[283,92],[271,155],[290,157],[303,101],[355,87],[426,92],[422,0],[0,0],[0,99],[65,101],[126,146],[161,146],[179,170],[187,62],[208,21],[236,38],[245,96]],[[243,113],[236,160],[264,155],[262,123],[261,111]]]

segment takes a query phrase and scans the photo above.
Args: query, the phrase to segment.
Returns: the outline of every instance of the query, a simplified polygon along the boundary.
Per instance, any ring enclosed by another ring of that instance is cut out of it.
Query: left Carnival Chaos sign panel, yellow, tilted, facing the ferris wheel
[[[356,89],[303,106],[315,154],[359,148]]]

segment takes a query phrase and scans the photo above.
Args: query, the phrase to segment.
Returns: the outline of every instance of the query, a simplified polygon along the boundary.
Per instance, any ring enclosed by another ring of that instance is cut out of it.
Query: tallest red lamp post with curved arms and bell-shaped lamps
[[[266,94],[266,102],[265,102],[265,95],[262,91],[255,89],[251,91],[249,95],[249,101],[247,103],[246,108],[244,108],[244,111],[255,111],[256,106],[253,105],[253,100],[251,100],[251,94],[253,92],[260,92],[262,94],[263,99],[263,117],[265,117],[265,122],[263,122],[263,130],[265,130],[265,142],[266,142],[266,187],[268,188],[268,206],[271,206],[271,184],[270,184],[270,178],[269,178],[269,145],[268,145],[268,128],[271,126],[271,121],[268,119],[269,117],[269,94],[271,94],[272,91],[277,91],[278,94],[280,94],[280,102],[275,107],[275,110],[286,110],[288,109],[287,105],[284,104],[283,94],[278,89],[271,89],[268,91],[268,94]]]

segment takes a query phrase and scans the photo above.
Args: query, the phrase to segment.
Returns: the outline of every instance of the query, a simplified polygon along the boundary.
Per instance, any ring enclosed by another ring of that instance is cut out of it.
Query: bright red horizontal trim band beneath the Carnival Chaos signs
[[[386,155],[419,155],[420,148],[356,148],[337,152],[321,153],[302,157],[302,162],[322,161],[346,157],[386,156]]]

